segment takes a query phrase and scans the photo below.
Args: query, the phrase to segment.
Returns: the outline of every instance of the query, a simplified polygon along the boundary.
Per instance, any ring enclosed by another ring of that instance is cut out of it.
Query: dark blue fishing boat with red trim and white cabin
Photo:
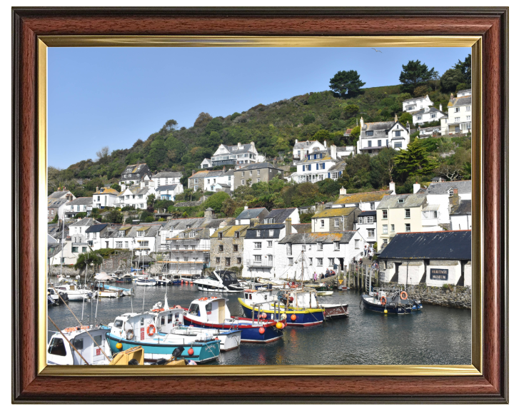
[[[232,317],[226,301],[226,298],[219,297],[193,300],[184,313],[184,322],[201,328],[240,330],[241,342],[272,342],[283,337],[284,321],[265,320],[258,318],[259,315],[253,318]]]

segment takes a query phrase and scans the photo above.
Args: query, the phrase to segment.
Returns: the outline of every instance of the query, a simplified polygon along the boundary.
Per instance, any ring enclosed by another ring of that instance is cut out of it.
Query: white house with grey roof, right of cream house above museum
[[[416,191],[416,189],[414,191]],[[450,228],[450,210],[452,207],[456,207],[459,200],[471,200],[471,181],[463,180],[430,183],[425,194],[428,205],[432,205],[434,208],[433,211],[438,212],[438,223],[444,224],[447,228]]]

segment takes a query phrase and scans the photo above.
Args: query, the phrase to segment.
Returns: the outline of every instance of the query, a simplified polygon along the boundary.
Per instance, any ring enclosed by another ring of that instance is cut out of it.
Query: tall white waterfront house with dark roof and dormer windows
[[[284,223],[258,224],[246,230],[243,240],[243,277],[276,278],[281,272],[276,270],[278,252],[282,249],[278,242],[286,234],[296,233],[296,228],[288,219]]]

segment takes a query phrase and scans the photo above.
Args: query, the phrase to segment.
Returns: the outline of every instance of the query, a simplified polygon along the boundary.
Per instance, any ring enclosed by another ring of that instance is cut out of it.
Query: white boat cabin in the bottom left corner
[[[109,333],[109,328],[72,327],[66,328],[62,332],[89,365],[106,365],[111,361],[109,359],[111,350],[106,342],[106,334]],[[61,333],[52,335],[46,348],[46,362],[51,365],[86,365],[86,362],[71,347],[69,342]],[[108,356],[107,358],[102,350]]]

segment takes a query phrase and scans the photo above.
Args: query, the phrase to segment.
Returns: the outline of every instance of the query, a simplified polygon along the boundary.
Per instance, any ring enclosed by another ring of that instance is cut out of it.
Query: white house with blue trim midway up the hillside
[[[313,151],[313,153],[307,154],[306,158],[296,163],[296,172],[291,174],[291,179],[296,183],[305,183],[306,181],[315,183],[325,180],[329,178],[328,172],[331,168],[341,162],[344,163],[338,160],[336,146],[331,146],[330,150]],[[338,171],[342,171],[346,163],[339,166],[341,167],[338,168]],[[333,171],[333,173],[336,173],[336,171]]]

